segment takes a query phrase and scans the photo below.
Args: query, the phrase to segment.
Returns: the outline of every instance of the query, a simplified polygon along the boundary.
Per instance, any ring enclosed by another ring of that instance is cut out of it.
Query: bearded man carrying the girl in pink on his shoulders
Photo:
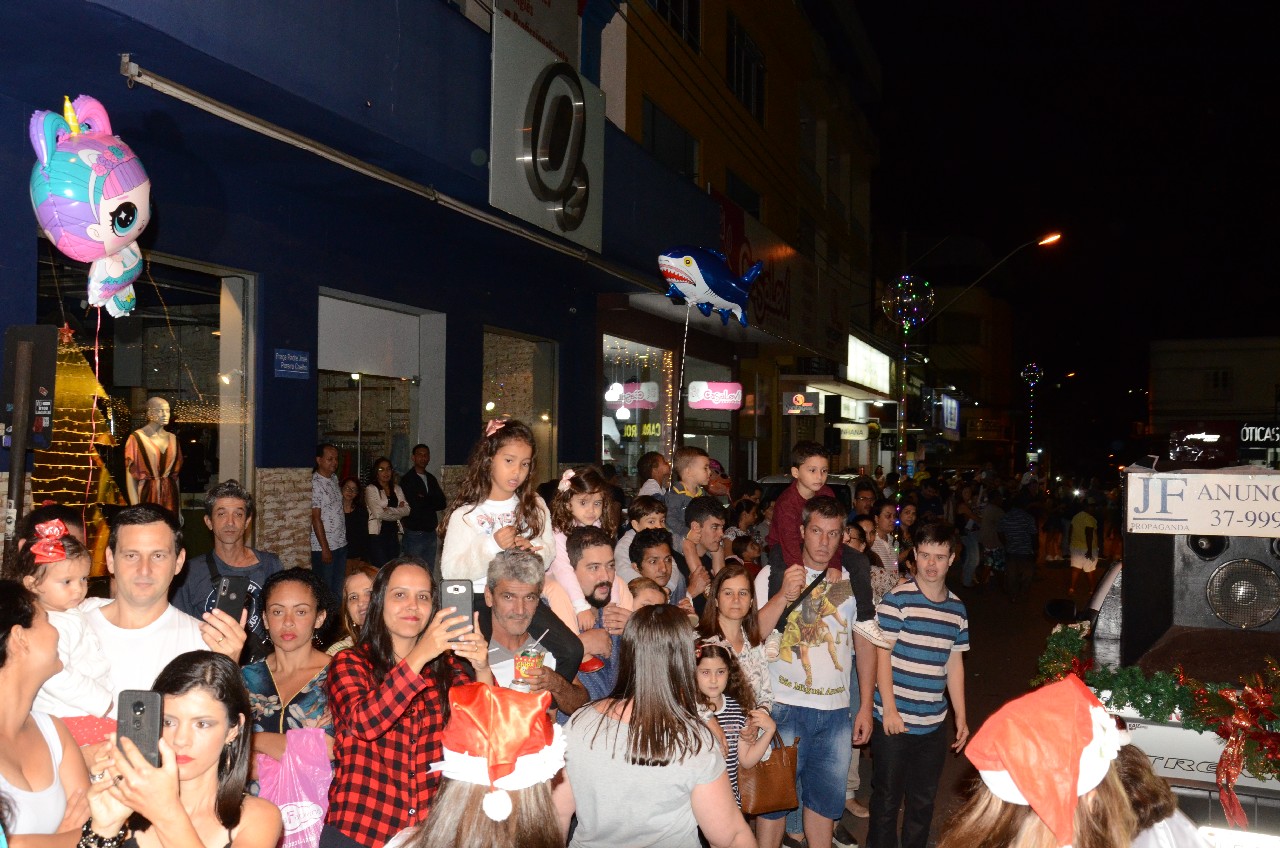
[[[595,610],[595,626],[582,630],[582,648],[599,657],[604,666],[594,671],[581,671],[579,680],[586,687],[593,701],[613,692],[618,679],[618,646],[622,628],[631,617],[631,610],[609,603],[613,589],[613,539],[598,526],[580,526],[564,542],[573,575],[582,587],[582,596]]]

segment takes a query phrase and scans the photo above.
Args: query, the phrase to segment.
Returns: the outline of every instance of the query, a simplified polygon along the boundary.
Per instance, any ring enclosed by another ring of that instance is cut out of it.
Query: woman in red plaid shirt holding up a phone
[[[360,643],[329,665],[334,769],[320,848],[381,848],[426,819],[439,775],[449,687],[493,684],[476,621],[439,608],[425,562],[397,557],[378,573]],[[454,635],[456,642],[449,642]]]

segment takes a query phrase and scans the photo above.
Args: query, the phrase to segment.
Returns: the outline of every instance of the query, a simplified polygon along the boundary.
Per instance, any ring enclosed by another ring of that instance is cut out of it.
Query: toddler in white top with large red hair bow
[[[32,708],[63,719],[77,744],[97,742],[100,720],[114,703],[110,661],[78,608],[88,593],[92,559],[67,525],[52,519],[36,525],[35,537],[15,562],[23,585],[35,593],[58,630],[58,658],[63,661],[63,670],[45,681]]]

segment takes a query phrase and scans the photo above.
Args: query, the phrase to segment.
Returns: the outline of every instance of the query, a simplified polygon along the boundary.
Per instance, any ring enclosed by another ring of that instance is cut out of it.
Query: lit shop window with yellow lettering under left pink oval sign
[[[675,356],[617,336],[604,336],[600,387],[600,461],[613,462],[636,488],[636,462],[649,451],[671,455]]]

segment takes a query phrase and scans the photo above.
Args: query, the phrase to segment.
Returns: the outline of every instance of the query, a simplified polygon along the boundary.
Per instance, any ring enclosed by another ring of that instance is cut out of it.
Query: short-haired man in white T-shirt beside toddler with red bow
[[[150,689],[160,671],[187,651],[238,660],[247,638],[244,614],[233,621],[214,610],[201,623],[169,603],[169,587],[186,556],[182,526],[165,509],[140,503],[111,520],[106,569],[115,578],[115,599],[90,598],[82,610],[111,662],[114,699],[124,689]]]

